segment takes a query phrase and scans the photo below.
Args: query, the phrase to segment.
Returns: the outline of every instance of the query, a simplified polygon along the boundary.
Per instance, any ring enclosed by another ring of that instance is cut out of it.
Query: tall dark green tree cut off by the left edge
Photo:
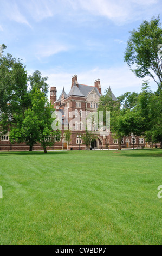
[[[5,48],[3,45],[3,52]],[[6,133],[9,127],[16,125],[16,117],[20,121],[31,105],[25,66],[9,53],[0,57],[0,94],[0,132]]]

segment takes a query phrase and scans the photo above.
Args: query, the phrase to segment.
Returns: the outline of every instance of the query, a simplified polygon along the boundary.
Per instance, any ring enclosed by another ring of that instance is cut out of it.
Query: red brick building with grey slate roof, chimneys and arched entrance
[[[116,101],[115,95],[111,88],[109,91],[112,95],[112,100]],[[49,150],[53,149],[67,149],[67,142],[65,140],[64,131],[70,129],[72,131],[71,139],[68,149],[86,149],[83,144],[82,135],[85,133],[86,124],[88,130],[95,135],[95,141],[91,143],[93,149],[115,149],[118,147],[118,141],[113,138],[109,127],[103,126],[102,118],[98,125],[98,105],[99,99],[102,95],[100,80],[94,82],[94,86],[80,84],[77,81],[77,75],[72,77],[72,86],[70,92],[67,94],[63,88],[61,95],[57,99],[56,87],[50,88],[50,102],[54,105],[56,110],[56,117],[59,120],[61,139],[56,142],[53,147],[47,147]],[[97,124],[94,121],[97,120]],[[160,144],[157,144],[158,147]],[[146,143],[144,137],[133,136],[130,134],[124,137],[121,143],[122,148],[145,148],[151,147],[150,143]],[[42,150],[40,144],[33,147],[34,150]],[[29,150],[29,146],[25,143],[11,144],[9,141],[9,132],[7,135],[2,135],[0,139],[0,150]]]

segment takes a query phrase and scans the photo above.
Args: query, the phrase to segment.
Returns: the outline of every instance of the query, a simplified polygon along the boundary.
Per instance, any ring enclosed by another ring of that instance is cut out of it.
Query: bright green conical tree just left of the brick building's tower
[[[48,92],[47,78],[43,78],[40,71],[35,71],[29,77],[29,95],[31,104],[22,115],[14,115],[16,124],[11,127],[11,142],[25,142],[29,145],[29,151],[33,150],[33,145],[41,143],[44,153],[47,153],[47,146],[53,146],[60,138],[60,131],[54,131],[51,124],[55,120],[52,117],[54,107],[48,102],[46,93]]]

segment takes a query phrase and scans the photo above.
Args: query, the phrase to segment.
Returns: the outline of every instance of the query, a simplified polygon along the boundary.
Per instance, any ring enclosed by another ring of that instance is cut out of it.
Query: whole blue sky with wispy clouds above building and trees
[[[92,86],[100,78],[102,93],[140,92],[142,80],[124,62],[129,31],[153,16],[162,21],[161,11],[161,0],[0,0],[0,44],[28,74],[48,76],[58,97],[75,74]]]

